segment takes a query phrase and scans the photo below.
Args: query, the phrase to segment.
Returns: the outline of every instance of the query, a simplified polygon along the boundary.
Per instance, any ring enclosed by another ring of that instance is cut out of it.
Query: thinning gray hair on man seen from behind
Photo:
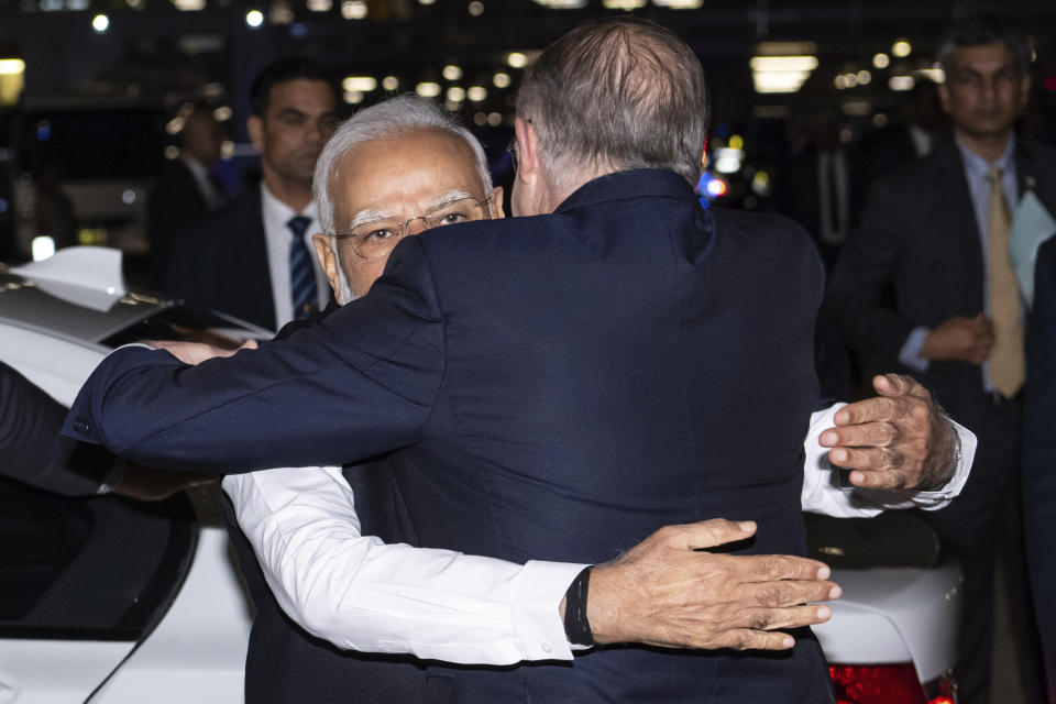
[[[579,26],[525,72],[517,114],[554,183],[667,168],[696,183],[707,134],[704,70],[671,31],[637,18]]]

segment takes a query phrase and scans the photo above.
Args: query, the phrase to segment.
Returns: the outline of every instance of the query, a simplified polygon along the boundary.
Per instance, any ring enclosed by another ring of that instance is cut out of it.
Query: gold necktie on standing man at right
[[[990,182],[987,271],[990,278],[990,320],[993,323],[990,383],[1005,398],[1012,398],[1026,378],[1020,288],[1009,262],[1009,230],[1012,218],[1009,204],[1004,199],[1001,169],[991,168],[987,180]]]

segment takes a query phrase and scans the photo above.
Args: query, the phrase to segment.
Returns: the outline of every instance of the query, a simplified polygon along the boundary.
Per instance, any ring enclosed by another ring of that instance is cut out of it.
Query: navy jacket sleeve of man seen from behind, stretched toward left
[[[256,351],[187,366],[122,349],[64,432],[154,466],[212,473],[341,464],[414,442],[443,370],[443,319],[417,238],[371,294]]]

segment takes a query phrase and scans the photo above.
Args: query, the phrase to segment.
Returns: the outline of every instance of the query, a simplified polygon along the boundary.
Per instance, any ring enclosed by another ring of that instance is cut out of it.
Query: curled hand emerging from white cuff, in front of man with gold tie
[[[864,488],[928,491],[953,473],[957,432],[926,388],[901,374],[872,380],[880,394],[840,408],[821,436],[837,466]]]

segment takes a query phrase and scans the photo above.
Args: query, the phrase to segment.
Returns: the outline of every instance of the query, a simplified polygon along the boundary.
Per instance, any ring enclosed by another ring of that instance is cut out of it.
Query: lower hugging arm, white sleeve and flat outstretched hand
[[[585,565],[518,565],[363,537],[352,490],[336,468],[231,475],[223,487],[279,605],[315,636],[463,664],[572,658],[562,600]],[[669,526],[593,568],[595,639],[791,647],[781,629],[827,619],[827,608],[804,604],[838,591],[813,560],[696,550],[754,531],[722,519]]]

